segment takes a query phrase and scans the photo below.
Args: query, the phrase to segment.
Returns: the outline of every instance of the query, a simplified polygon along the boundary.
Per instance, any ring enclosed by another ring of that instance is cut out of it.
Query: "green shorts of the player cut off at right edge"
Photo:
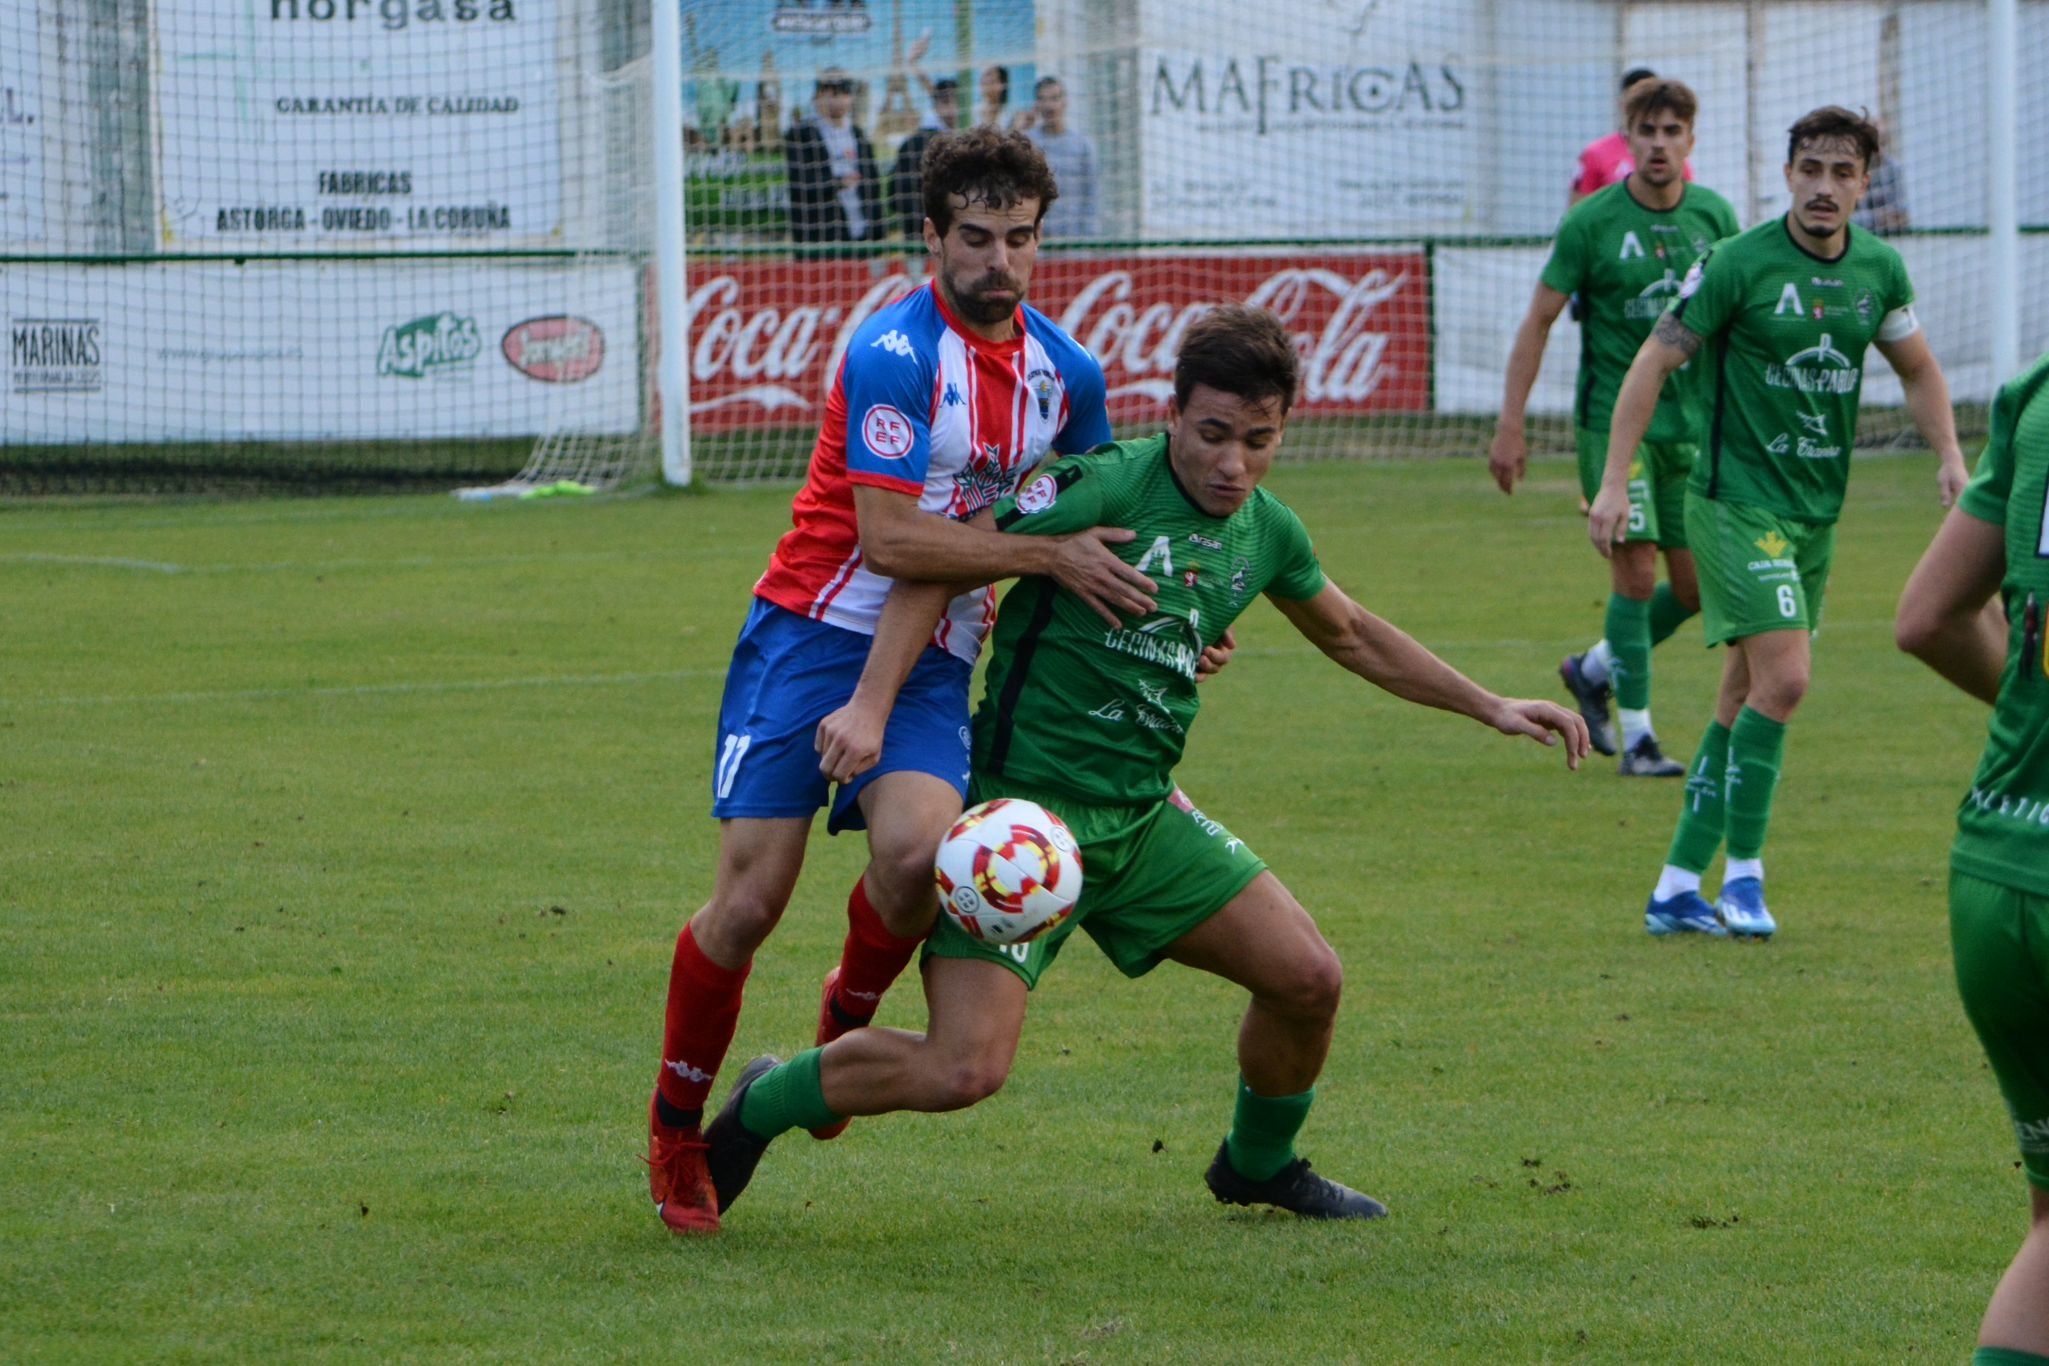
[[[2049,897],[1949,872],[1963,1014],[1985,1047],[2029,1182],[2049,1190]]]

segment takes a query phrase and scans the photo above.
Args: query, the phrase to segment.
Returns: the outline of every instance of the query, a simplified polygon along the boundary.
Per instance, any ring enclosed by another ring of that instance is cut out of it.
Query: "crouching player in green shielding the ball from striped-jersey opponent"
[[[1164,436],[1063,459],[998,506],[996,524],[1018,535],[1129,526],[1137,539],[1119,555],[1158,582],[1154,612],[1104,629],[1065,590],[1022,580],[996,623],[971,799],[1031,797],[1065,819],[1082,842],[1082,899],[1059,928],[1008,948],[940,917],[924,956],[924,1034],[865,1028],[789,1063],[750,1063],[705,1130],[721,1210],[781,1133],[850,1114],[959,1110],[994,1094],[1031,989],[1080,928],[1129,977],[1172,958],[1252,993],[1238,1036],[1238,1104],[1207,1173],[1219,1200],[1315,1219],[1385,1212],[1295,1155],[1342,971],[1287,887],[1174,784],[1199,709],[1197,659],[1266,594],[1326,655],[1395,696],[1504,735],[1547,745],[1563,737],[1574,766],[1588,741],[1572,711],[1488,692],[1324,575],[1301,520],[1258,487],[1281,449],[1297,373],[1279,317],[1217,309],[1182,338]],[[908,674],[951,592],[897,584],[869,674]]]

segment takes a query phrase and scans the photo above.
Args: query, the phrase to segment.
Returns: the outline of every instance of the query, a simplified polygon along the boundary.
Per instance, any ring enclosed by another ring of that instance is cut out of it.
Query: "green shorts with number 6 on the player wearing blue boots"
[[[1836,524],[1686,494],[1686,541],[1701,571],[1707,643],[1822,625]]]

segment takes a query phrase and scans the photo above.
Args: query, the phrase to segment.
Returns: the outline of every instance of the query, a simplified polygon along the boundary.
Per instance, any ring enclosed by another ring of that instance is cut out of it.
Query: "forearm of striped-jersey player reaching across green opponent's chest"
[[[910,494],[854,485],[854,516],[869,567],[893,580],[994,584],[1043,573],[1086,602],[1113,627],[1154,610],[1154,582],[1109,547],[1135,532],[1094,526],[1070,537],[1008,537],[926,512]]]

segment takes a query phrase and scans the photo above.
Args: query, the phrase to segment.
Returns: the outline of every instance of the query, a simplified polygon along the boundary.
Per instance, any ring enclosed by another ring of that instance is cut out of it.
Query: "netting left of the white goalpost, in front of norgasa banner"
[[[645,70],[615,0],[0,0],[0,481],[647,477]]]

